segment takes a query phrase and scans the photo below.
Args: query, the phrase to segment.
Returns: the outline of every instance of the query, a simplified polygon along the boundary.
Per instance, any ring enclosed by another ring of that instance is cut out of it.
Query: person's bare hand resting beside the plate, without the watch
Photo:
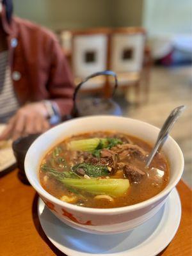
[[[43,102],[27,104],[15,113],[8,125],[0,134],[1,140],[12,138],[16,140],[21,136],[44,132],[49,129],[47,109]]]

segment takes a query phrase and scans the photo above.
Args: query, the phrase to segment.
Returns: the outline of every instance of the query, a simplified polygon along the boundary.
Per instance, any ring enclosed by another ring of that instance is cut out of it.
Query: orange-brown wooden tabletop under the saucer
[[[177,186],[182,202],[182,218],[173,241],[159,255],[190,256],[191,189],[181,180]],[[0,177],[0,255],[64,255],[47,239],[37,216],[38,195],[22,184],[15,169]]]

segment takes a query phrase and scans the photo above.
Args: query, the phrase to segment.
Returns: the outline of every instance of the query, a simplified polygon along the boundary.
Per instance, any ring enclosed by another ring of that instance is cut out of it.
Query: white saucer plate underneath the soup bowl
[[[172,241],[180,223],[181,205],[176,189],[164,206],[143,225],[129,232],[95,235],[68,227],[38,200],[38,217],[49,240],[68,256],[154,256]]]

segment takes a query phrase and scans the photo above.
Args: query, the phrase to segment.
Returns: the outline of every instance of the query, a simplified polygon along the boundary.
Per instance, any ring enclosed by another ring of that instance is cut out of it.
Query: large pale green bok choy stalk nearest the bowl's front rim
[[[63,179],[67,187],[85,191],[93,195],[122,196],[129,188],[128,179]]]

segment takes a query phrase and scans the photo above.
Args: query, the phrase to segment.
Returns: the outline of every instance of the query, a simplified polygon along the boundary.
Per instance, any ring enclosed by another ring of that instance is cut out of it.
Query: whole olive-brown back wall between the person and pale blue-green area
[[[141,26],[143,0],[13,0],[14,12],[51,29]]]

